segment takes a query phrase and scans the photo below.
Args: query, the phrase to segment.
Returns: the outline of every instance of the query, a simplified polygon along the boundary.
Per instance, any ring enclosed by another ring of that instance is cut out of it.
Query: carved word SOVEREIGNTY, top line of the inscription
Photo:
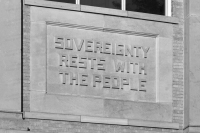
[[[130,46],[78,38],[54,37],[55,48],[102,54],[147,58],[150,47]],[[84,47],[82,47],[84,45]],[[112,51],[112,52],[111,52]]]

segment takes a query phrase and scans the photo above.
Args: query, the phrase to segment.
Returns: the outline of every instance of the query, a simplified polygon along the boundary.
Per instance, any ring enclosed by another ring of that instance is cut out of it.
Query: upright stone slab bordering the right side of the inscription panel
[[[157,87],[158,101],[171,102],[172,101],[172,39],[159,37],[158,38],[159,60]]]

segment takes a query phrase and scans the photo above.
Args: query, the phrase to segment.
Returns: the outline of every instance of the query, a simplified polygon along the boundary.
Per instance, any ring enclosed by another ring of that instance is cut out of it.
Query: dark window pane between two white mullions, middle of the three
[[[81,5],[121,9],[121,0],[80,0]]]

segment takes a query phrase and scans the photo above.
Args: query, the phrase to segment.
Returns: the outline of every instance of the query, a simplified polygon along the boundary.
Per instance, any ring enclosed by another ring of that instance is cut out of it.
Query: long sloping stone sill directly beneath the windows
[[[148,13],[122,11],[122,10],[117,10],[117,9],[109,9],[109,8],[45,1],[45,0],[24,0],[24,1],[25,1],[24,4],[29,5],[29,6],[40,6],[40,7],[47,7],[47,8],[56,8],[56,9],[61,9],[61,10],[90,12],[90,13],[120,16],[120,17],[133,18],[133,19],[157,21],[157,22],[163,22],[163,23],[172,23],[172,24],[179,23],[178,18],[148,14]]]

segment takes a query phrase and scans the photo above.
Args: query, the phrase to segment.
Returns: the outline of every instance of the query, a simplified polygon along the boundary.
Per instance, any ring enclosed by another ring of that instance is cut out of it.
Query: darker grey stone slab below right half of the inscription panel
[[[171,103],[105,100],[104,108],[106,117],[172,122]]]

